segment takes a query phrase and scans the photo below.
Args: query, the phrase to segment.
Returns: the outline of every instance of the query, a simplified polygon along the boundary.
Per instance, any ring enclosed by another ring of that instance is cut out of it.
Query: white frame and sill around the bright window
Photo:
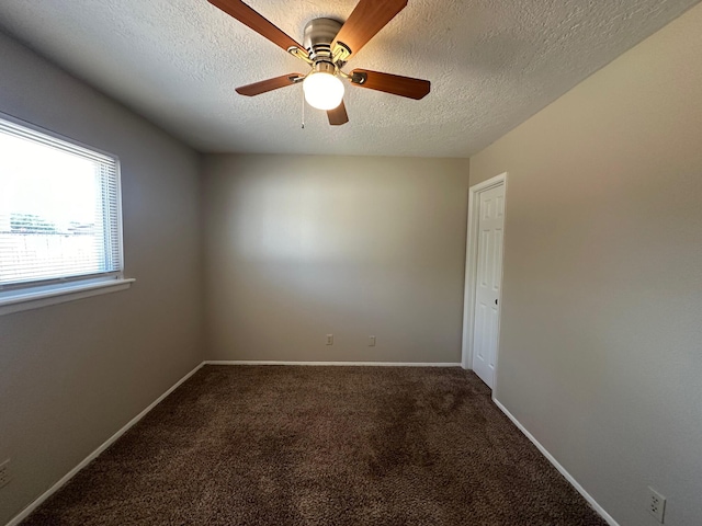
[[[118,270],[0,285],[0,316],[129,288],[135,279],[124,277],[122,172],[120,158],[114,153],[86,145],[71,137],[37,126],[33,123],[27,123],[13,115],[0,112],[0,119],[13,126],[24,128],[31,134],[43,135],[58,142],[64,142],[68,146],[67,150],[70,150],[70,148],[73,148],[77,152],[84,150],[88,155],[94,153],[97,157],[106,157],[114,160],[116,198],[116,231],[114,236],[116,237],[120,254]],[[36,139],[36,142],[41,144],[42,141]]]

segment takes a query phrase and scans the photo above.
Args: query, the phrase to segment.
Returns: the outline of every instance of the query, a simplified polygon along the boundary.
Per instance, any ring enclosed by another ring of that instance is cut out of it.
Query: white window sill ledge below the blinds
[[[134,278],[101,279],[58,285],[44,290],[23,290],[7,296],[0,295],[0,316],[126,290],[135,281]]]

